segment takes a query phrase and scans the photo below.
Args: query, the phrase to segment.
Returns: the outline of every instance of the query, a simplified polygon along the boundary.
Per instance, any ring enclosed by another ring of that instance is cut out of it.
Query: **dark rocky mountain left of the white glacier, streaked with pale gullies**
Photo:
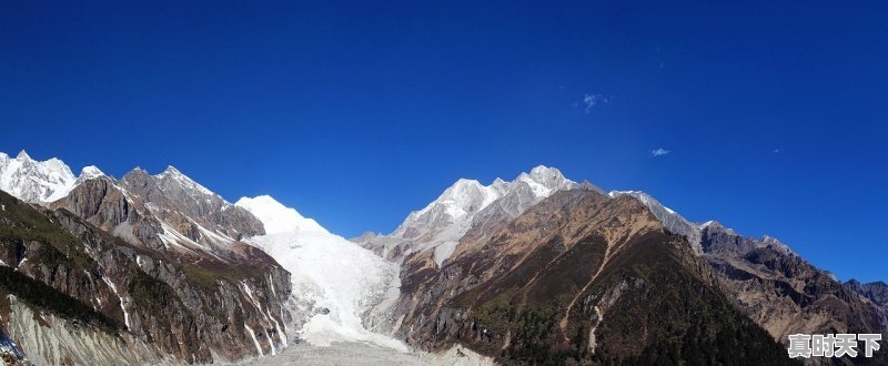
[[[169,174],[174,173],[168,170],[141,186],[107,176],[84,180],[50,205],[54,211],[2,194],[0,231],[7,234],[0,236],[0,261],[48,285],[43,292],[92,309],[101,322],[89,323],[89,332],[157,353],[139,352],[139,359],[209,363],[273,354],[286,345],[280,324],[289,316],[283,305],[289,274],[262,251],[231,237],[262,233],[261,223]],[[171,196],[161,194],[165,191]],[[23,306],[71,321],[71,314],[11,287]],[[46,334],[31,335],[38,339],[18,342],[29,357],[38,353],[34,359],[48,364],[85,357],[64,348],[28,349],[49,342],[39,340]],[[100,356],[91,362],[107,364]]]

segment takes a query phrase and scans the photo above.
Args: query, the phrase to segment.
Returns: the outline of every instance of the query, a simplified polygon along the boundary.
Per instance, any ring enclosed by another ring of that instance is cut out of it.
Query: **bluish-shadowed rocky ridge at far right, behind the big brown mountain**
[[[797,333],[885,333],[884,308],[773,241],[717,223],[702,231],[704,258],[750,318],[781,342]]]

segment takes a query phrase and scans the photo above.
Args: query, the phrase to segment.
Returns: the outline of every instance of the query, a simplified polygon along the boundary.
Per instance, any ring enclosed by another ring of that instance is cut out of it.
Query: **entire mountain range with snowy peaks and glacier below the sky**
[[[840,283],[774,237],[553,167],[458,180],[394,232],[351,241],[172,166],[117,180],[0,153],[0,190],[11,364],[239,363],[299,343],[473,363],[791,364],[789,334],[888,338],[885,283]],[[876,355],[833,360],[888,364]]]

